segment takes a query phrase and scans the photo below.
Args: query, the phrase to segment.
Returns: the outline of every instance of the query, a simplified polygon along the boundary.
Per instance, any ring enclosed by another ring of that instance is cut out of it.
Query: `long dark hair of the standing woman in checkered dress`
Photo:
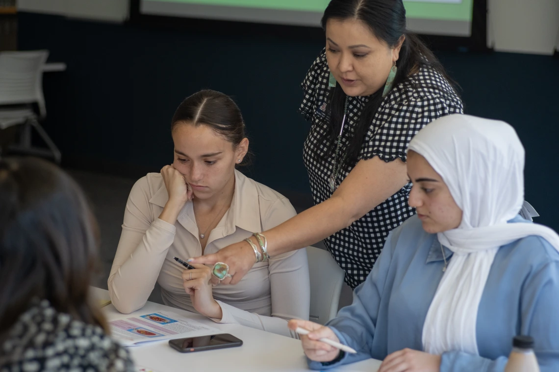
[[[396,47],[401,37],[405,40],[400,49],[400,56],[396,62],[398,71],[394,80],[397,86],[408,79],[421,67],[428,66],[444,76],[453,86],[454,82],[449,78],[443,66],[432,51],[413,33],[406,31],[406,9],[402,0],[331,0],[324,11],[322,27],[326,30],[329,20],[355,19],[365,23],[372,33],[390,47]],[[437,89],[436,86],[432,88]],[[350,139],[346,162],[358,160],[359,152],[363,144],[365,134],[371,125],[375,114],[382,103],[382,89],[373,94],[362,110],[361,118],[355,133]],[[342,125],[343,107],[345,93],[339,84],[330,90],[329,120],[330,120],[330,154],[334,150],[334,144]]]

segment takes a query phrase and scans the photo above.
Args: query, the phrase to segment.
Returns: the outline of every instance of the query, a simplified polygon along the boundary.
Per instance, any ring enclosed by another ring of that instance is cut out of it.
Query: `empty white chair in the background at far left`
[[[49,52],[0,52],[0,129],[23,125],[17,152],[37,156],[52,156],[60,163],[60,151],[39,124],[46,117],[45,97],[42,93],[42,67]],[[37,104],[39,115],[33,104]],[[49,149],[31,144],[31,128],[35,128]]]

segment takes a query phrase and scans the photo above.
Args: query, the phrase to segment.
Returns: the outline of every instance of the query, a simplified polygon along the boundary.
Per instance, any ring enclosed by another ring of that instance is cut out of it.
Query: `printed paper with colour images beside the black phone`
[[[203,325],[173,312],[159,311],[109,322],[111,334],[123,345],[208,336],[221,333],[217,328]]]

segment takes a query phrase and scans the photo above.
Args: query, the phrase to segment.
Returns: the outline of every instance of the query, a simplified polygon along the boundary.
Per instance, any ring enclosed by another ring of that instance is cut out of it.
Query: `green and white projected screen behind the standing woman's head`
[[[470,36],[474,0],[404,0],[410,31]],[[146,15],[319,26],[329,0],[141,0]]]

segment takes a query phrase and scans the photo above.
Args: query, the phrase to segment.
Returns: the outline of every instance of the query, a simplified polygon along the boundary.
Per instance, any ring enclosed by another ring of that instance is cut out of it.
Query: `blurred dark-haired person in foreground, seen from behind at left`
[[[0,160],[0,371],[134,371],[89,296],[97,232],[67,173]]]

